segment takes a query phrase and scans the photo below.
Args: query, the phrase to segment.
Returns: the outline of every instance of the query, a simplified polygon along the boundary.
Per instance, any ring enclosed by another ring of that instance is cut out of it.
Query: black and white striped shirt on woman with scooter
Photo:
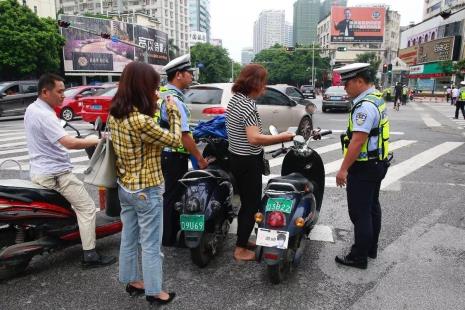
[[[226,109],[226,130],[228,131],[229,151],[237,155],[258,155],[262,147],[252,145],[247,140],[246,127],[257,126],[262,133],[262,121],[255,100],[236,93]]]

